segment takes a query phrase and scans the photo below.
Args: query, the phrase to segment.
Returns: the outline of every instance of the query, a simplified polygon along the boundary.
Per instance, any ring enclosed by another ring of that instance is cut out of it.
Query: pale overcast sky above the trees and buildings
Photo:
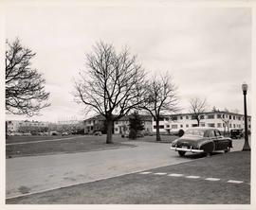
[[[9,41],[18,37],[37,53],[33,67],[44,74],[51,106],[29,119],[82,119],[73,102],[73,79],[85,68],[85,52],[96,42],[127,45],[150,74],[169,71],[188,112],[193,96],[210,108],[243,114],[241,84],[251,86],[251,10],[174,8],[160,5],[113,6],[9,4]],[[250,89],[247,95],[250,114]],[[25,116],[7,115],[8,119]]]

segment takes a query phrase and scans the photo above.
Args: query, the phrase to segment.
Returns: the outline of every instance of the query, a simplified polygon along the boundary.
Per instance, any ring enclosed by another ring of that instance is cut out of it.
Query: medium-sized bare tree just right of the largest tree
[[[174,113],[179,110],[176,87],[171,76],[165,75],[154,77],[146,85],[146,99],[140,108],[151,114],[155,120],[156,141],[161,141],[159,121],[162,114]]]

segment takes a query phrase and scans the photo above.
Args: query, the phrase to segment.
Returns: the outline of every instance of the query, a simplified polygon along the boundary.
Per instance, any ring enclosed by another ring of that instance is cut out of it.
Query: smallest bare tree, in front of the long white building
[[[200,125],[201,115],[206,112],[207,109],[206,98],[200,99],[199,97],[193,97],[190,101],[190,113],[197,121],[197,126]]]

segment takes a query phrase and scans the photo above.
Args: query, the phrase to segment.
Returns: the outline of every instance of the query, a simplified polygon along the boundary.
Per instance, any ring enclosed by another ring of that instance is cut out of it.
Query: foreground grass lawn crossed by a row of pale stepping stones
[[[97,182],[7,200],[8,204],[249,204],[250,152],[230,152],[155,172],[197,175],[199,179],[132,173]],[[220,178],[218,182],[205,178]],[[229,184],[242,180],[243,184]]]

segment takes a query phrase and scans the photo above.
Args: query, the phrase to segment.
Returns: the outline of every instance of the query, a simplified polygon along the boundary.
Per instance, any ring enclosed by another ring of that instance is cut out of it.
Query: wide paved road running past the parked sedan
[[[243,142],[235,140],[232,150]],[[7,198],[193,160],[180,158],[168,144],[129,144],[137,147],[7,159]]]

